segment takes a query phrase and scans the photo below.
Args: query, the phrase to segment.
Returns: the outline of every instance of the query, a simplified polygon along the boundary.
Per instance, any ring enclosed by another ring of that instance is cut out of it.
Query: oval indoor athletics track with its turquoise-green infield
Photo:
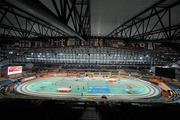
[[[137,78],[41,78],[22,83],[15,90],[23,95],[62,100],[98,100],[102,96],[108,100],[138,100],[161,94],[159,87]]]

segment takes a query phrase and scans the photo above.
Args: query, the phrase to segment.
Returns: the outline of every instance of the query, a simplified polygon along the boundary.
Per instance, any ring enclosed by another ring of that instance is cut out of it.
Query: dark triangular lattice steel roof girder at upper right
[[[107,36],[127,37],[131,39],[173,39],[179,37],[179,24],[172,26],[171,9],[180,4],[179,0],[163,4],[167,0],[160,0],[148,9],[129,19],[117,27]],[[163,6],[163,7],[160,7]],[[168,24],[163,20],[168,16]],[[159,27],[160,26],[160,27]],[[174,27],[176,26],[176,29]]]

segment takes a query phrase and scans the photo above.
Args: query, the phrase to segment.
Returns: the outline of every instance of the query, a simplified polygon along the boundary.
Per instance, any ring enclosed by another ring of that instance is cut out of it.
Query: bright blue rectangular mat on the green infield
[[[89,93],[109,93],[110,89],[107,87],[89,87]]]

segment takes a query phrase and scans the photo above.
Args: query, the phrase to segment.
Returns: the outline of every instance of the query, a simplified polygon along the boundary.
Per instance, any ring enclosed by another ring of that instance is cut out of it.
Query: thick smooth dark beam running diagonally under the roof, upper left
[[[69,34],[70,36],[76,36],[80,40],[84,39],[72,30],[69,26],[65,25],[63,21],[61,21],[56,15],[54,15],[47,7],[45,7],[39,0],[5,0],[9,4],[30,13],[41,20],[44,20],[50,23],[53,26],[61,29],[65,33]]]

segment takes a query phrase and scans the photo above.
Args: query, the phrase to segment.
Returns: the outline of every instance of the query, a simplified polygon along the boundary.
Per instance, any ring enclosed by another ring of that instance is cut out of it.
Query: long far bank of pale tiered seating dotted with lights
[[[164,64],[157,53],[117,48],[67,47],[28,50],[14,62],[71,64]]]

